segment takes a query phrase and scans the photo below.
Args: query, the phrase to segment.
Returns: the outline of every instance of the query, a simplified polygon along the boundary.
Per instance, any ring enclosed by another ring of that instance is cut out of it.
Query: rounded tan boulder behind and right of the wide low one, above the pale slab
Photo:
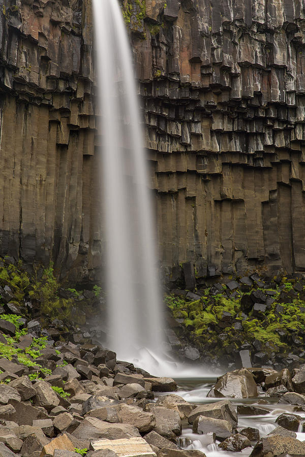
[[[117,412],[117,417],[121,423],[129,423],[136,427],[140,433],[147,433],[156,427],[156,418],[152,413],[144,412],[142,409],[121,404]]]

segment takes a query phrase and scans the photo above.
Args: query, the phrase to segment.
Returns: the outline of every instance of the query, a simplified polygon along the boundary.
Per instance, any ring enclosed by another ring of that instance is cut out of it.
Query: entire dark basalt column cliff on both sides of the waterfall
[[[90,2],[2,5],[0,254],[90,277],[103,251]],[[304,2],[123,9],[164,271],[305,270]]]

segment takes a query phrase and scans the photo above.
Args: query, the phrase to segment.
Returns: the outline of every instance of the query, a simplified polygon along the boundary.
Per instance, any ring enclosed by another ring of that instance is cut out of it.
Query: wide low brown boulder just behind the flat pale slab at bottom
[[[111,440],[140,436],[138,429],[128,423],[109,423],[96,417],[85,417],[72,436],[78,439]]]

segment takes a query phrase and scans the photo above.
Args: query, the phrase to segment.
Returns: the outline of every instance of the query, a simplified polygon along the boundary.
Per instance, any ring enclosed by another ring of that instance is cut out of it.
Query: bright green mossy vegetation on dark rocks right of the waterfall
[[[201,290],[203,296],[199,300],[167,295],[165,303],[181,322],[183,335],[207,354],[221,355],[226,347],[227,354],[230,354],[232,348],[238,349],[245,342],[252,343],[254,340],[261,343],[266,353],[277,350],[285,354],[291,351],[291,334],[305,342],[305,291],[289,295],[294,288],[294,280],[288,281],[285,277],[273,287],[268,291],[274,302],[261,316],[254,314],[253,310],[246,315],[240,303],[243,296],[250,295],[254,290],[266,292],[266,289],[256,286],[248,292],[236,291],[235,298],[227,297],[226,286],[223,285],[223,290],[217,295],[213,295],[208,287]],[[283,308],[277,309],[279,305]],[[235,330],[234,322],[238,321],[242,327],[239,325]]]

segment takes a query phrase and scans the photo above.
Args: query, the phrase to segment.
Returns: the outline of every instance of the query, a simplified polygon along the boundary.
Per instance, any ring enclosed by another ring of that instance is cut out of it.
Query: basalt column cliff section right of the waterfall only
[[[302,3],[129,3],[163,266],[304,270]]]

